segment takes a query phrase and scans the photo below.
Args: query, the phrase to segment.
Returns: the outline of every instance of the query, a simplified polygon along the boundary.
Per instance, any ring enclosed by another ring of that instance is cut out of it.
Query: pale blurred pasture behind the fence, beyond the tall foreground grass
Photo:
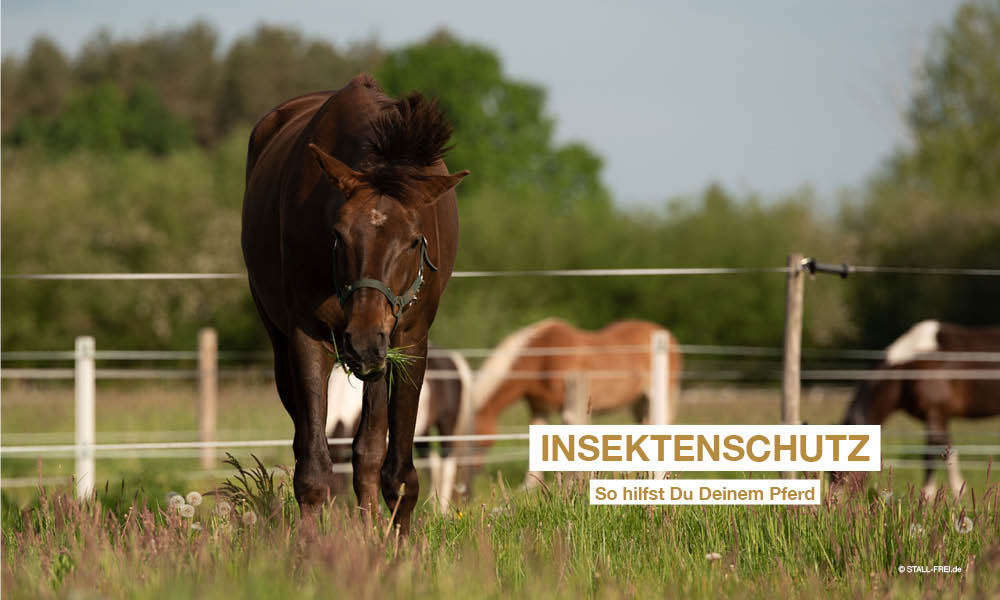
[[[847,388],[807,388],[802,399],[802,418],[813,424],[839,423],[850,390]],[[3,387],[2,433],[4,445],[72,443],[73,391],[65,384],[10,385]],[[596,423],[629,422],[627,410],[600,415]],[[771,388],[696,387],[685,389],[678,409],[678,423],[753,424],[779,421],[779,393]],[[502,426],[508,431],[524,431],[528,411],[516,405],[505,413]],[[197,440],[197,389],[193,384],[102,383],[98,386],[98,442],[154,442]],[[1000,419],[955,421],[952,424],[956,444],[1000,444]],[[28,434],[44,434],[37,437]],[[288,439],[292,426],[269,381],[229,382],[219,390],[218,434],[220,440]],[[883,428],[883,444],[919,445],[923,443],[922,424],[903,414],[893,416]],[[524,443],[496,444],[494,455],[524,449]],[[293,463],[290,448],[236,448],[232,453],[248,458],[259,456],[265,464]],[[171,489],[209,489],[225,471],[205,474],[197,451],[147,453],[135,458],[114,456],[98,460],[98,481],[109,485],[141,485],[150,493]],[[526,456],[526,454],[525,454]],[[910,463],[919,454],[903,457]],[[970,485],[983,482],[988,456],[963,456],[964,473]],[[994,456],[995,458],[995,456]],[[219,463],[222,469],[221,461]],[[491,464],[487,473],[500,471],[511,481],[520,481],[526,471],[526,458],[503,464]],[[9,498],[24,502],[34,496],[33,487],[39,472],[43,481],[62,482],[70,476],[73,460],[66,458],[4,458],[3,478],[8,483],[26,487],[8,487]],[[727,476],[726,474],[717,474]],[[711,475],[685,475],[711,476]],[[732,476],[731,474],[729,476]],[[903,490],[909,484],[922,483],[921,469],[895,469],[894,485]],[[480,477],[480,480],[490,479]],[[942,479],[943,482],[943,473]]]

